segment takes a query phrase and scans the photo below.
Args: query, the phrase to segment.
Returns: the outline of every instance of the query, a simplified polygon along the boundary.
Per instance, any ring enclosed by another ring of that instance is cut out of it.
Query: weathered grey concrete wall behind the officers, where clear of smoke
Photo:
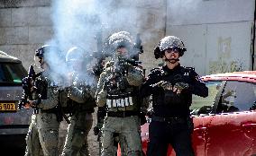
[[[146,74],[161,63],[153,49],[166,35],[184,40],[187,52],[181,63],[196,67],[200,75],[250,69],[254,0],[116,1],[117,7],[138,11],[138,22],[131,26],[141,33],[144,53],[140,59]],[[51,13],[51,0],[0,1],[0,50],[20,58],[28,68],[34,50],[54,35]],[[63,125],[64,137],[67,125]],[[90,151],[97,155],[96,136],[92,132],[89,136]]]

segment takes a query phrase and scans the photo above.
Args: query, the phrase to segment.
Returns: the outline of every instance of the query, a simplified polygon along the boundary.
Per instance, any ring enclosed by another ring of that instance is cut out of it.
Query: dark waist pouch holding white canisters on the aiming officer
[[[132,93],[123,93],[119,95],[107,95],[106,106],[107,108],[123,108],[133,105]]]

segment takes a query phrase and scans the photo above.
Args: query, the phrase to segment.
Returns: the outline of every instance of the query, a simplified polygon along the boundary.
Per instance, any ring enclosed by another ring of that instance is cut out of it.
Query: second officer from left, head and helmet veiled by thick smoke
[[[96,80],[95,75],[87,69],[89,58],[85,51],[78,47],[70,48],[66,55],[66,62],[71,67],[68,105],[72,107],[69,108],[72,112],[62,156],[90,155],[87,134],[93,125],[92,113],[96,107]]]

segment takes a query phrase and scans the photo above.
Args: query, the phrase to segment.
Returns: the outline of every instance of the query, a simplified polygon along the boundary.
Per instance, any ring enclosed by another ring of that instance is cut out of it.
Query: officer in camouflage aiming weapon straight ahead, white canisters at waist
[[[112,52],[111,61],[105,64],[96,90],[97,106],[106,107],[101,155],[115,155],[114,134],[118,134],[121,148],[125,148],[122,154],[139,156],[142,155],[142,144],[138,94],[143,72],[126,61],[133,50],[133,39],[129,32],[112,34],[108,39],[108,48]]]

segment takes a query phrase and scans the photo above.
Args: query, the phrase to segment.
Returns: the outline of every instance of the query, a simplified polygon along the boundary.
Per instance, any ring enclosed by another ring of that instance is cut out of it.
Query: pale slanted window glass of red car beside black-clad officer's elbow
[[[208,96],[206,98],[199,97],[197,95],[193,94],[192,97],[192,104],[191,104],[191,109],[192,111],[198,110],[200,108],[210,108],[214,102],[215,102],[215,97],[222,85],[222,82],[206,82],[206,86],[208,87]],[[194,113],[192,113],[194,114]],[[197,113],[196,113],[197,114]]]

